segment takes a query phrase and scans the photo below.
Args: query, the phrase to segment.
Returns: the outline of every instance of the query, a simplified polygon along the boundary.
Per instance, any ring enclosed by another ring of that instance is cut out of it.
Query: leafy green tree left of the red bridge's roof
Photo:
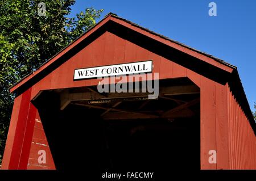
[[[46,5],[46,16],[38,4]],[[8,87],[93,27],[103,10],[67,18],[75,0],[0,0],[0,164],[14,95]]]

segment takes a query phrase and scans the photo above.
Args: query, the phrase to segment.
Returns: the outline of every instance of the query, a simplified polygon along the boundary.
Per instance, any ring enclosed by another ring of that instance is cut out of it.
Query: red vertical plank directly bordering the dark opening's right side
[[[201,78],[201,169],[217,169],[209,163],[209,151],[216,150],[216,94],[215,83]]]

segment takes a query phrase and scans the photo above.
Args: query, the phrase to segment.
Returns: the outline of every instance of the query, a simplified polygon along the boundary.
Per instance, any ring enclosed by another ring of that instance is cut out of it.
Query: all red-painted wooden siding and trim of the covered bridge
[[[131,24],[120,19],[109,16],[99,26],[109,19],[200,58],[202,61],[220,69],[228,72],[232,71],[232,68],[222,65],[212,58],[193,52],[170,40],[152,35],[152,33],[131,26]],[[87,36],[85,34],[81,39]],[[74,44],[77,44],[77,42]],[[67,49],[70,48],[72,47]],[[63,52],[67,52],[67,49],[63,50]],[[57,55],[55,60],[63,52]],[[168,60],[108,31],[15,99],[1,169],[55,169],[47,138],[44,134],[42,123],[40,123],[40,117],[36,108],[30,102],[40,91],[98,84],[98,79],[73,81],[73,71],[75,69],[143,60],[153,61],[153,73],[159,73],[160,79],[188,77],[200,87],[201,169],[256,169],[256,137],[245,113],[243,113],[232,92],[230,92],[228,83],[221,85],[214,82],[203,75],[197,74],[195,71],[175,63],[174,60]],[[38,71],[44,69],[50,62],[43,65]],[[27,79],[24,79],[24,81],[26,82]],[[13,87],[14,89],[15,87]],[[40,149],[45,149],[47,152],[46,165],[40,165],[36,162],[39,156],[38,150]],[[216,164],[208,162],[209,150],[217,151]],[[187,157],[187,155],[184,155],[184,157]]]

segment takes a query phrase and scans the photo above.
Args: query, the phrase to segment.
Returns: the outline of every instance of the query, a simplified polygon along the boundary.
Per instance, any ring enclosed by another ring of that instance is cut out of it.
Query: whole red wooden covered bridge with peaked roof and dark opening
[[[157,99],[102,94],[98,79],[74,81],[76,69],[147,60],[159,73]],[[113,14],[10,91],[1,169],[69,169],[84,159],[103,169],[256,169],[255,122],[237,68]]]

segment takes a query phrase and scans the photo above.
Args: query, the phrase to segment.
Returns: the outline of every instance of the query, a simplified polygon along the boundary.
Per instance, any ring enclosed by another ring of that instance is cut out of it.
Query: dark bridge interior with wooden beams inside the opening
[[[43,91],[34,99],[56,169],[200,169],[200,89],[186,78],[147,92],[97,87]]]

